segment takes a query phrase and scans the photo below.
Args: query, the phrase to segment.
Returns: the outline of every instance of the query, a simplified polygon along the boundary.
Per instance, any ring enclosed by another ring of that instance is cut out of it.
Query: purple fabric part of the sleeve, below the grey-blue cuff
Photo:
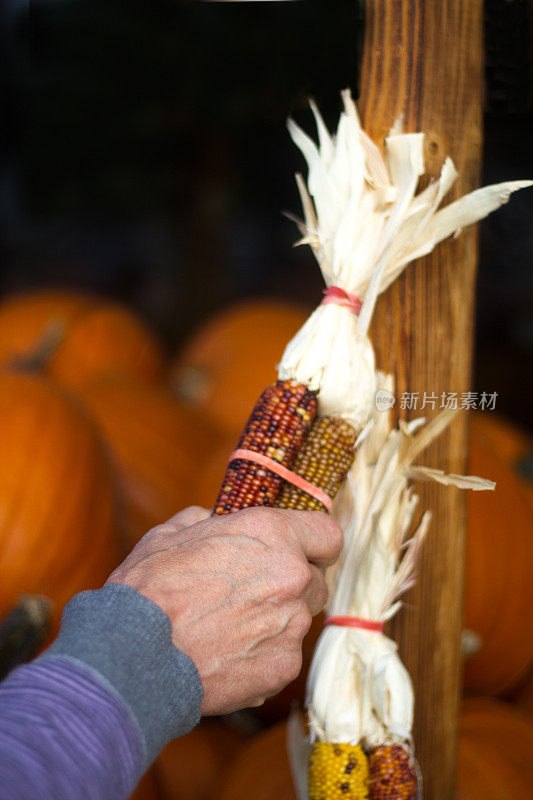
[[[142,774],[139,729],[117,696],[59,658],[0,685],[0,798],[127,798]]]

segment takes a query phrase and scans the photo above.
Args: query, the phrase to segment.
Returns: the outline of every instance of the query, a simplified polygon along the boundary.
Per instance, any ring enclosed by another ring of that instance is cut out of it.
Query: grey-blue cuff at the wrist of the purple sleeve
[[[58,656],[85,664],[120,695],[143,737],[145,768],[200,720],[203,689],[195,664],[172,643],[165,612],[129,586],[111,583],[77,594],[39,661]]]

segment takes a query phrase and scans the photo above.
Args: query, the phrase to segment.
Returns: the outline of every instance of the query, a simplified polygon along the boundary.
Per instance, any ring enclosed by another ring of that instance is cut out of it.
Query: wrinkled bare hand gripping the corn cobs
[[[260,705],[298,675],[302,639],[327,599],[321,569],[342,533],[317,511],[209,514],[191,506],[153,528],[109,581],[168,614],[174,644],[200,673],[202,713],[223,714]]]

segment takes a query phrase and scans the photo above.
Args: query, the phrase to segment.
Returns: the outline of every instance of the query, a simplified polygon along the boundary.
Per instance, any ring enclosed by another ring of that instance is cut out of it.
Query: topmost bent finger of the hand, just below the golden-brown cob
[[[308,561],[329,567],[342,550],[340,525],[320,511],[283,511],[286,524],[299,542]]]

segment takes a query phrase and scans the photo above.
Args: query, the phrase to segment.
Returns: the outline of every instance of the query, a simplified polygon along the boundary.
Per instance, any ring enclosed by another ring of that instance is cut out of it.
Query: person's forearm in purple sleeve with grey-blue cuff
[[[118,584],[77,595],[54,645],[0,685],[2,792],[126,798],[198,721],[201,699],[198,672],[158,606]]]

